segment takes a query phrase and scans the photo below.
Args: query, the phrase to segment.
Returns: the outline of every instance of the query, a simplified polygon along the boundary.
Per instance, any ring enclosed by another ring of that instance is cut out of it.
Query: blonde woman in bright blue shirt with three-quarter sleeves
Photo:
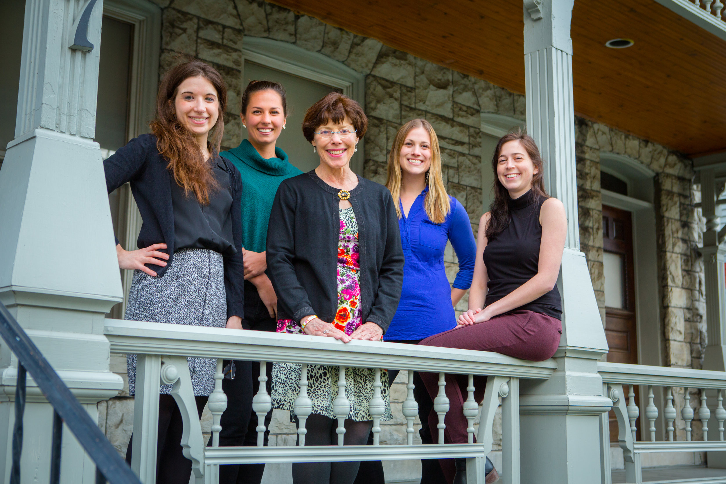
[[[399,128],[388,156],[386,187],[396,202],[406,263],[399,307],[384,339],[415,345],[456,327],[454,305],[471,285],[476,241],[466,209],[446,194],[439,139],[427,120],[410,120]],[[453,287],[444,268],[444,250],[449,240],[459,258],[459,273]],[[393,382],[398,372],[389,370],[388,374]],[[418,374],[414,384],[424,422],[421,440],[432,443],[428,414],[433,402]],[[453,462],[450,464],[453,467]],[[436,459],[423,460],[422,470],[422,484],[446,482]],[[380,462],[361,463],[356,483],[383,482]]]

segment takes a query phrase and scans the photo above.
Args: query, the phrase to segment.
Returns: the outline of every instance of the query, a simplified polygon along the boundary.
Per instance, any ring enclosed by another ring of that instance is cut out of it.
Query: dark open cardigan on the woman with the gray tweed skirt
[[[242,178],[237,168],[222,157],[232,181],[232,237],[237,253],[224,255],[224,288],[227,292],[227,318],[230,316],[245,317],[245,268],[242,265]],[[136,205],[143,221],[138,247],[149,247],[153,244],[166,244],[167,249],[159,252],[168,253],[169,260],[165,267],[156,264],[146,266],[163,277],[166,268],[174,259],[174,210],[171,205],[171,184],[176,183],[166,168],[168,162],[156,148],[156,136],[142,134],[118,149],[103,162],[106,173],[106,188],[113,192],[127,181],[131,182],[131,193],[134,194]],[[118,243],[118,239],[116,240]]]

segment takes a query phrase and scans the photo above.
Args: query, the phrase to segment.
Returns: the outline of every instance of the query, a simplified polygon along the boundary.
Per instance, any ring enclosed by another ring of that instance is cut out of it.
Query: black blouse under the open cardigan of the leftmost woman
[[[171,184],[175,252],[187,248],[237,252],[232,236],[232,185],[221,157],[214,160],[213,171],[219,190],[209,193],[209,205],[201,205],[193,193],[187,196],[179,184]]]

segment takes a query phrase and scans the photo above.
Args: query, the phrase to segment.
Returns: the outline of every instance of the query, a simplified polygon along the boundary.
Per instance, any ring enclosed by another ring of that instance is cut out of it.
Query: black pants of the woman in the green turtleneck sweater
[[[270,317],[260,299],[257,288],[245,281],[245,319],[242,327],[253,331],[277,329],[277,321]],[[225,361],[226,366],[229,361]],[[219,446],[257,446],[257,414],[252,411],[252,398],[260,388],[259,361],[234,361],[237,369],[234,380],[222,380],[227,395],[227,410],[221,417]],[[267,364],[267,393],[272,393],[272,362]],[[264,445],[269,439],[272,411],[265,417]],[[231,464],[219,467],[219,484],[260,484],[265,464]]]

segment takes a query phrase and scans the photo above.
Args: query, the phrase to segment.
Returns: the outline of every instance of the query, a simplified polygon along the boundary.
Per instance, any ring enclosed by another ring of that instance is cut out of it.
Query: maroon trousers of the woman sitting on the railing
[[[542,313],[532,311],[513,311],[495,316],[484,323],[449,329],[449,331],[433,335],[423,340],[420,345],[458,348],[462,350],[494,351],[502,355],[513,356],[529,361],[543,361],[551,358],[560,345],[562,321]],[[421,373],[421,378],[431,399],[439,393],[439,375]],[[449,411],[444,423],[444,440],[446,443],[467,443],[467,422],[464,417],[464,401],[467,398],[466,375],[446,374],[446,396],[449,397]],[[484,398],[486,377],[474,377],[477,391],[474,398],[478,403]],[[433,409],[428,416],[429,428],[434,443],[439,443],[439,416]],[[443,460],[443,459],[442,459]],[[449,463],[441,463],[447,480],[452,482],[454,467]]]

